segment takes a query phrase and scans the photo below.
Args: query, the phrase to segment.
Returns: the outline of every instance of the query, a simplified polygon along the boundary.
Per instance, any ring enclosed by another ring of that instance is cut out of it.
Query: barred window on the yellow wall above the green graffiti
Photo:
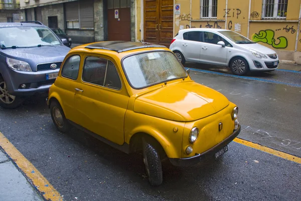
[[[288,0],[263,0],[263,19],[285,19]]]

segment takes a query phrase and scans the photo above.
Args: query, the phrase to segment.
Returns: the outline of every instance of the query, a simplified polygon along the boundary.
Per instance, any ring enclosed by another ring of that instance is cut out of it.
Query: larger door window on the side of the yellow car
[[[93,56],[87,57],[82,79],[91,84],[121,89],[121,80],[117,69],[115,65],[107,59]]]

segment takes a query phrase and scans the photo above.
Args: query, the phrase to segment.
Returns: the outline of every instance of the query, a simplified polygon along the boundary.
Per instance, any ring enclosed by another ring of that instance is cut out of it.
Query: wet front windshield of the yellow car
[[[126,57],[123,60],[123,68],[134,88],[144,88],[187,76],[177,57],[167,51],[146,52]]]

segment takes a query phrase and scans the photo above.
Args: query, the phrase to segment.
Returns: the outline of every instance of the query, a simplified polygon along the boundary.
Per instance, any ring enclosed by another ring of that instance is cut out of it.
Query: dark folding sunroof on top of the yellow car
[[[164,45],[146,43],[146,42],[130,42],[130,41],[106,41],[94,43],[86,46],[87,49],[102,49],[102,50],[112,50],[117,53],[125,52],[129,50],[135,50],[140,48],[150,48],[150,47],[165,47]]]

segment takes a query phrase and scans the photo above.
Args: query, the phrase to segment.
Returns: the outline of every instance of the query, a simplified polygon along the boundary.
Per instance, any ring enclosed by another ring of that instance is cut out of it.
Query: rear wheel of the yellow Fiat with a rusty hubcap
[[[50,113],[52,121],[57,129],[62,133],[68,132],[70,129],[70,123],[66,119],[62,107],[55,100],[53,100],[50,104]]]

